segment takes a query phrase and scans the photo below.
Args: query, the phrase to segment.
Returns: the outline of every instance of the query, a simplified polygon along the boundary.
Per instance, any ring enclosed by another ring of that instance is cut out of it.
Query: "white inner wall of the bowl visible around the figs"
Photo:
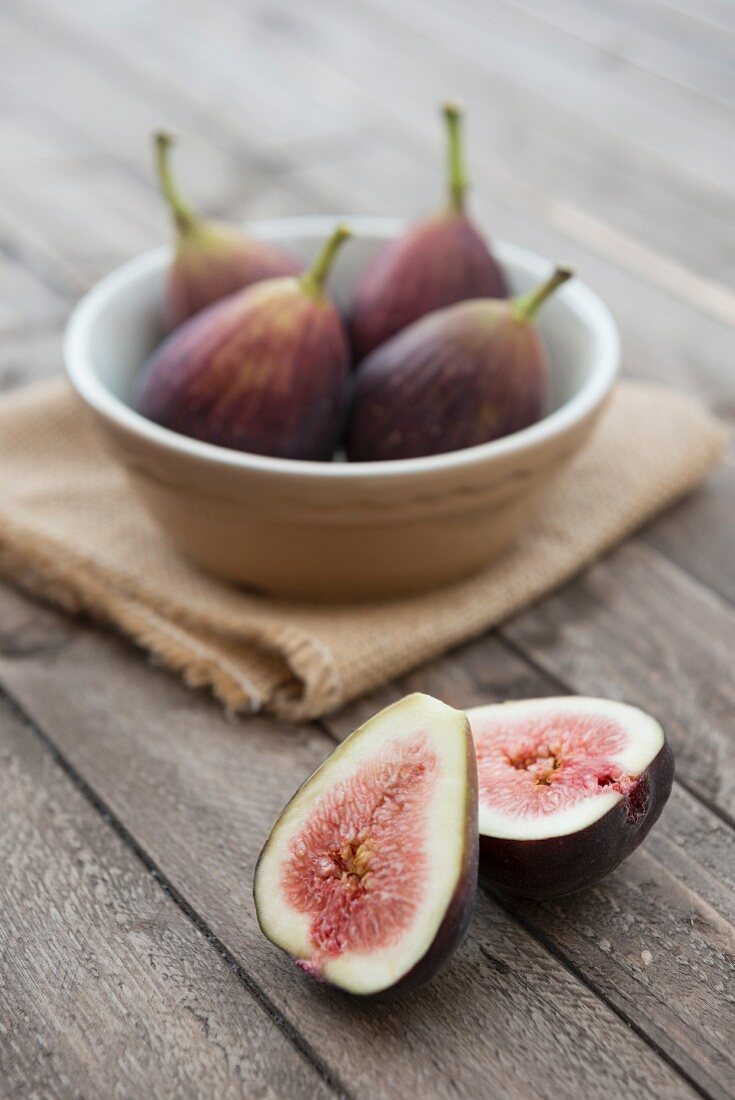
[[[340,308],[347,309],[365,264],[401,231],[402,222],[379,218],[283,218],[253,223],[249,232],[277,240],[309,261],[337,220],[348,221],[355,233],[338,256],[330,286]],[[502,242],[494,244],[494,251],[514,293],[529,289],[549,274],[549,262],[534,253]],[[83,333],[77,350],[101,385],[128,407],[135,377],[164,334],[162,302],[169,254],[167,248],[158,249],[113,272],[80,307],[84,322],[77,318],[77,331]],[[614,326],[596,296],[574,280],[545,306],[538,328],[549,356],[549,413],[553,413],[579,393],[605,352],[610,353],[605,344],[610,344]]]

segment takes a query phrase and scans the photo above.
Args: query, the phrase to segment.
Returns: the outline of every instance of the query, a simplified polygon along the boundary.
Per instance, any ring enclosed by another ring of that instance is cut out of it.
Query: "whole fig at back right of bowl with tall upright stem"
[[[449,202],[385,245],[360,279],[351,317],[356,360],[434,309],[464,298],[504,298],[505,277],[465,212],[461,112],[443,107],[449,150]]]

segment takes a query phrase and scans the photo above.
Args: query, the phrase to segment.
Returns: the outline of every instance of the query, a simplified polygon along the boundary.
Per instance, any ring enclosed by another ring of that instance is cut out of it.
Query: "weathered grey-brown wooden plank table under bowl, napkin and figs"
[[[4,0],[0,47],[3,387],[58,371],[79,293],[166,237],[154,127],[215,213],[414,215],[450,94],[483,223],[573,263],[628,373],[735,415],[729,0]],[[298,728],[2,590],[0,1093],[733,1096],[734,534],[731,460],[501,630]],[[600,887],[481,891],[452,967],[375,1008],[262,938],[251,877],[333,739],[407,689],[635,701],[678,781]]]

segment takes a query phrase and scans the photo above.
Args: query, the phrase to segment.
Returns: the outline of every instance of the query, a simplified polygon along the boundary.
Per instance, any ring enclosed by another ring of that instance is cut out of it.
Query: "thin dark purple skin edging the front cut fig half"
[[[391,712],[394,708],[404,706],[406,703],[414,698],[419,698],[418,694],[406,696],[399,700],[397,703],[393,703],[385,707],[383,712],[375,715],[374,718],[382,716],[385,713]],[[436,702],[436,701],[434,701]],[[464,716],[465,717],[465,716]],[[374,719],[371,719],[371,722]],[[362,726],[353,730],[350,735],[352,737],[359,737],[362,730],[365,728],[368,723],[363,723]],[[349,740],[349,738],[348,738]],[[266,922],[263,920],[261,906],[259,904],[259,870],[263,860],[268,851],[268,847],[273,840],[274,835],[279,828],[282,820],[287,815],[289,807],[298,800],[299,795],[309,783],[322,772],[325,769],[329,768],[330,760],[334,754],[338,754],[344,746],[345,741],[338,745],[333,752],[314,771],[298,788],[289,802],[284,806],[281,812],[278,820],[273,826],[268,838],[261,850],[257,861],[255,864],[255,870],[253,876],[253,899],[255,902],[255,915],[259,923],[259,927],[263,935],[273,941],[273,937],[268,931]],[[318,981],[322,985],[329,986],[331,989],[337,990],[339,993],[356,997],[361,1001],[392,1001],[396,997],[403,996],[408,992],[413,992],[420,986],[426,985],[436,975],[445,968],[449,963],[452,955],[460,946],[464,939],[470,921],[472,919],[472,913],[474,911],[475,897],[478,891],[478,870],[479,870],[479,857],[480,857],[480,838],[478,835],[478,767],[474,752],[474,741],[472,739],[472,732],[470,729],[470,723],[465,717],[465,732],[464,732],[464,746],[465,746],[465,760],[467,760],[467,785],[465,785],[465,804],[463,809],[463,840],[462,840],[462,861],[459,869],[459,875],[457,879],[457,884],[452,893],[451,900],[447,906],[441,924],[437,928],[435,937],[425,952],[425,954],[414,964],[414,966],[406,971],[406,974],[398,979],[394,985],[386,987],[381,990],[373,992],[363,992],[351,990],[344,986],[339,986],[331,982],[327,977],[318,976],[316,977],[310,971],[307,971],[311,977],[311,980]],[[281,946],[276,943],[276,946]],[[284,949],[282,947],[282,949]]]

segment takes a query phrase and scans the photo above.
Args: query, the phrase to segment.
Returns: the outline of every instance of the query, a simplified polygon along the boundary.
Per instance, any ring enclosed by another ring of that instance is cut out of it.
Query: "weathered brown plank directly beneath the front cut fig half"
[[[28,635],[33,605],[3,595],[3,613],[13,606]],[[251,876],[271,822],[330,740],[227,723],[91,631],[56,634],[46,652],[41,634],[36,623],[36,653],[0,662],[2,682],[355,1096],[550,1098],[559,1080],[590,1098],[694,1094],[484,894],[453,965],[414,997],[375,1012],[306,982],[257,932]]]

